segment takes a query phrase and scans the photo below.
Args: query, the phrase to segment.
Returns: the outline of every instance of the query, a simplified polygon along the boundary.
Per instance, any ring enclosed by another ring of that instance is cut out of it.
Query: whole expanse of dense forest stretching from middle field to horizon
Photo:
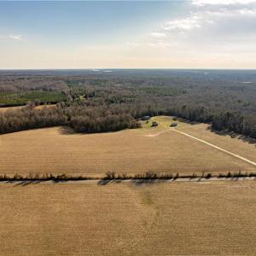
[[[53,102],[54,108],[35,108]],[[0,112],[0,133],[55,125],[119,131],[139,127],[143,115],[166,114],[256,138],[253,71],[2,73],[0,106],[23,104]]]

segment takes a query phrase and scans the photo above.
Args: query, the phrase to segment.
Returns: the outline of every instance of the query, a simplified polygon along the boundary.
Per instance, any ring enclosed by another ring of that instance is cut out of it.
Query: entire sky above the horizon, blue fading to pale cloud
[[[0,68],[256,68],[256,0],[0,1]]]

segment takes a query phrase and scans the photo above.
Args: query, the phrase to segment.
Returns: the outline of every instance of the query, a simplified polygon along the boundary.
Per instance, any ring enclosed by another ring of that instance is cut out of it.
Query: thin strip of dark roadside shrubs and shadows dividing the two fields
[[[95,181],[98,185],[107,185],[109,183],[134,183],[136,185],[142,184],[154,184],[154,183],[165,183],[179,181],[195,181],[200,182],[201,180],[210,180],[212,178],[227,178],[238,180],[242,177],[255,178],[256,172],[226,172],[219,174],[212,174],[211,172],[202,172],[201,174],[176,174],[173,173],[156,173],[156,172],[145,172],[135,175],[127,175],[125,173],[116,174],[115,172],[107,172],[104,177],[84,177],[84,176],[70,176],[67,174],[43,174],[43,175],[32,175],[22,177],[18,174],[14,176],[0,175],[0,182],[2,183],[14,183],[16,186],[27,186],[30,184],[38,184],[43,182],[52,183],[67,183],[67,182],[77,182],[77,181]]]

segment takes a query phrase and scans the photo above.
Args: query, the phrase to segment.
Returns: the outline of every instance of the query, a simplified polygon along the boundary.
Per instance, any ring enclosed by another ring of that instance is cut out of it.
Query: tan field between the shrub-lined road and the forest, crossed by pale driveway
[[[0,136],[0,172],[26,175],[52,172],[102,175],[105,172],[249,172],[256,166],[169,128],[171,117],[156,117],[159,127],[102,134],[74,134],[63,127]],[[179,122],[209,143],[256,161],[254,144],[207,130],[207,125]]]

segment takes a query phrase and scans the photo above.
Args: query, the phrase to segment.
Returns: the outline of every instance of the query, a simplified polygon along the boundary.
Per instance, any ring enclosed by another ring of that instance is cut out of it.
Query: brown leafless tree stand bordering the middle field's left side
[[[122,110],[112,112],[107,108],[33,108],[27,106],[0,113],[0,133],[25,131],[36,128],[67,125],[77,132],[119,131],[137,128],[139,123]]]

